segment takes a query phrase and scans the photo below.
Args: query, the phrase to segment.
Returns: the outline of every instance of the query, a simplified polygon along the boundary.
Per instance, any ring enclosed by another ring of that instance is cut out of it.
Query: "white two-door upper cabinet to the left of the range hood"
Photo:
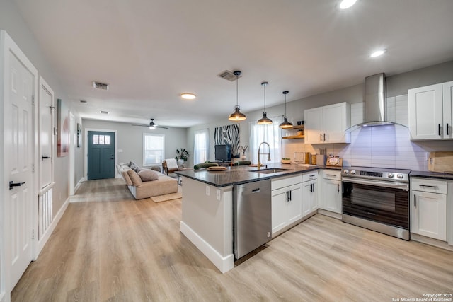
[[[346,102],[304,110],[305,144],[350,143],[350,111]]]

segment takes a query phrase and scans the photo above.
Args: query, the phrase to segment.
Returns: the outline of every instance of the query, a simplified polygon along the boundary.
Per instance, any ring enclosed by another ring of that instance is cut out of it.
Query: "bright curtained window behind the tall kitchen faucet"
[[[258,121],[249,122],[250,154],[253,163],[258,162],[258,147],[263,141],[269,144],[270,150],[268,150],[268,146],[263,144],[260,153],[270,152],[270,162],[268,162],[267,155],[261,155],[261,163],[279,163],[282,159],[282,135],[278,125],[283,122],[283,118],[272,117],[271,120],[273,120],[272,124],[257,124]]]

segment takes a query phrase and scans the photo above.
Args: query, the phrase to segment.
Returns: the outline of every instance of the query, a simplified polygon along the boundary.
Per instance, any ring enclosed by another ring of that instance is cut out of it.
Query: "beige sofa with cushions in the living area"
[[[178,192],[178,180],[162,173],[154,171],[159,176],[157,180],[142,181],[139,174],[125,163],[117,165],[117,170],[135,199]]]

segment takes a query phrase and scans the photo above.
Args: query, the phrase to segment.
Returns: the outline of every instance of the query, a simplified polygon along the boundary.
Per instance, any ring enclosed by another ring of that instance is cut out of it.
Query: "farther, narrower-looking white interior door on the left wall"
[[[39,189],[47,187],[53,182],[53,112],[54,92],[52,88],[40,77],[40,180]]]

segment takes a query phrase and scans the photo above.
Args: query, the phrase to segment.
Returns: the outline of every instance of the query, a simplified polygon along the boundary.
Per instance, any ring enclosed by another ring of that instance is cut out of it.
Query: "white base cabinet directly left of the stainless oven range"
[[[322,202],[319,208],[333,213],[342,213],[341,171],[323,170]]]

